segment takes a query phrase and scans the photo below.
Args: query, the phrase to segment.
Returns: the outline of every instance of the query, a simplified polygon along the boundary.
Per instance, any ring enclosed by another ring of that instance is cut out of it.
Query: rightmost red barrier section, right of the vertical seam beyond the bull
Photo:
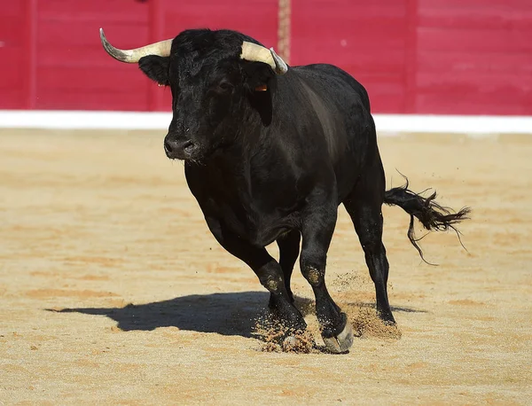
[[[419,0],[419,113],[532,114],[532,2]]]

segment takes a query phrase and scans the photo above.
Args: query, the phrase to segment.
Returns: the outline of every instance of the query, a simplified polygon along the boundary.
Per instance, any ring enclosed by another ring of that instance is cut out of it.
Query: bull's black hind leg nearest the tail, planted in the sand
[[[376,164],[359,178],[343,204],[355,225],[370,276],[375,284],[379,317],[387,324],[395,324],[387,298],[389,265],[386,248],[382,244],[381,207],[384,201],[385,178],[379,159]]]

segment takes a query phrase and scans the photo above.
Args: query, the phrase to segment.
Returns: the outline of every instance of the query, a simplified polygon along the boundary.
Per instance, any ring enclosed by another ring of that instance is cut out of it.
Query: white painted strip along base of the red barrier
[[[0,110],[4,129],[161,129],[171,113]],[[532,116],[373,114],[379,134],[532,135]]]

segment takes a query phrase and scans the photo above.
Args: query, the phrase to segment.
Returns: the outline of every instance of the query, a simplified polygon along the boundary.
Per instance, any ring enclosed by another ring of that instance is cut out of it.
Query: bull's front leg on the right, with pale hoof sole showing
[[[309,208],[301,228],[301,273],[316,297],[316,316],[322,327],[325,347],[343,353],[353,344],[353,330],[345,313],[332,301],[325,285],[325,262],[336,225],[338,209],[334,202]]]

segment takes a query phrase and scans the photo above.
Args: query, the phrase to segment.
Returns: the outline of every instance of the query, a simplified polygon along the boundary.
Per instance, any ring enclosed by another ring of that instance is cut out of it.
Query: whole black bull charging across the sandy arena
[[[450,213],[434,202],[435,194],[422,198],[407,186],[385,191],[370,101],[352,76],[326,64],[279,74],[276,65],[242,57],[243,42],[257,43],[235,31],[188,30],[171,41],[171,49],[168,42],[167,53],[137,59],[148,77],[172,92],[165,151],[185,161],[187,183],[209,230],[254,270],[290,332],[306,328],[290,289],[301,243],[301,273],[316,296],[325,345],[344,352],[353,334],[325,285],[340,203],[355,225],[377,311],[387,324],[395,320],[387,298],[382,204],[411,215],[408,236],[418,249],[414,216],[427,230],[454,230],[468,209]],[[121,55],[113,57],[137,61]],[[265,248],[273,241],[279,261]]]

